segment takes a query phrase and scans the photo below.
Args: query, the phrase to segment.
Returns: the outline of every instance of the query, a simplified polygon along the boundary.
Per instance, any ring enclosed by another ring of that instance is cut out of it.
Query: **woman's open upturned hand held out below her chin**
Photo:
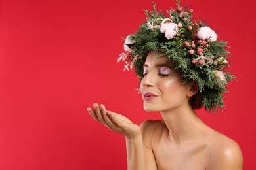
[[[140,127],[137,124],[133,124],[133,122],[125,116],[106,110],[104,105],[98,105],[97,103],[93,104],[93,107],[94,110],[91,109],[91,107],[87,108],[89,114],[97,122],[108,127],[108,129],[121,133],[130,139],[135,139],[137,136],[141,135]]]

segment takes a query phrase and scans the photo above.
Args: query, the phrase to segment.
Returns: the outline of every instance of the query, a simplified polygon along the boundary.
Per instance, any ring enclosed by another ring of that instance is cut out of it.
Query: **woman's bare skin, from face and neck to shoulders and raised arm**
[[[88,108],[89,114],[126,138],[128,169],[242,169],[240,146],[200,120],[189,104],[198,92],[196,82],[182,84],[181,73],[159,53],[148,55],[140,90],[154,93],[144,99],[144,110],[160,112],[163,120],[146,120],[140,126],[106,110],[104,105]]]

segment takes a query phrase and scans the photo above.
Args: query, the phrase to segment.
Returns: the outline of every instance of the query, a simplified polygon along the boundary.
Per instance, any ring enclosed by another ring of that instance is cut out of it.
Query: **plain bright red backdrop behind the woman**
[[[175,1],[156,1],[168,10]],[[184,4],[184,2],[183,2]],[[226,110],[198,114],[236,140],[255,169],[255,1],[188,2],[232,46]],[[146,113],[138,80],[117,63],[121,37],[151,0],[0,1],[0,169],[126,169],[125,139],[86,112],[94,102],[137,124]]]

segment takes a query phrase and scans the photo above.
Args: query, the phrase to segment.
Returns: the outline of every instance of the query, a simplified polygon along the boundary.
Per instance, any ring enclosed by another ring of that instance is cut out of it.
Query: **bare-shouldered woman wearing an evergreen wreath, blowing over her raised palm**
[[[119,60],[135,67],[144,110],[163,120],[140,126],[104,105],[88,108],[93,118],[126,138],[128,169],[242,169],[238,144],[211,129],[194,109],[223,109],[226,84],[234,78],[224,68],[229,52],[207,25],[192,21],[192,9],[154,10],[135,35],[127,36]]]

